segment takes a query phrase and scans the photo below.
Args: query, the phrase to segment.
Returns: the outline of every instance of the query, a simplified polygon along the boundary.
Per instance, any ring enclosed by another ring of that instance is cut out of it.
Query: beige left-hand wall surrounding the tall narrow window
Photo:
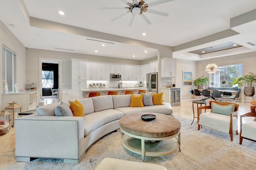
[[[17,85],[19,88],[25,87],[26,80],[26,48],[20,41],[9,31],[9,29],[0,21],[0,94],[2,94],[2,45],[5,45],[16,53],[17,56]],[[15,100],[14,100],[15,101]],[[2,97],[0,98],[0,108],[2,108]]]

